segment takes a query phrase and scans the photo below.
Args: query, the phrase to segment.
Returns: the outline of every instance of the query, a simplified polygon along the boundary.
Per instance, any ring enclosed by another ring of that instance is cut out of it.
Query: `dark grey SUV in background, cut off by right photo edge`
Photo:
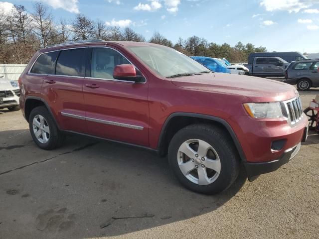
[[[306,91],[319,87],[319,59],[305,59],[292,62],[286,70],[285,83],[296,85]]]

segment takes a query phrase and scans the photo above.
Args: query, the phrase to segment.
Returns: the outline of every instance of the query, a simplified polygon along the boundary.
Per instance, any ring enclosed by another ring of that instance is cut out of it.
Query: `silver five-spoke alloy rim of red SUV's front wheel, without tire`
[[[177,152],[177,161],[182,174],[198,185],[213,183],[221,171],[216,150],[200,139],[189,139],[183,142]]]

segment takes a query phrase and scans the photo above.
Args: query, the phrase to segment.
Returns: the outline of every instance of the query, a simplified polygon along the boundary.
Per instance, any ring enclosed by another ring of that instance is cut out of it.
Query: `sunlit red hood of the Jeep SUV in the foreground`
[[[246,96],[256,103],[285,101],[299,95],[286,83],[243,75],[207,73],[173,78],[171,82],[187,89]]]

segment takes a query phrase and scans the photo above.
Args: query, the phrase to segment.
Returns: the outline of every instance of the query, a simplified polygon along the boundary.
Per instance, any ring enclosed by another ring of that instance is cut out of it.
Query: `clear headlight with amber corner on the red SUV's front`
[[[252,118],[281,118],[283,112],[279,102],[246,103],[244,107]]]

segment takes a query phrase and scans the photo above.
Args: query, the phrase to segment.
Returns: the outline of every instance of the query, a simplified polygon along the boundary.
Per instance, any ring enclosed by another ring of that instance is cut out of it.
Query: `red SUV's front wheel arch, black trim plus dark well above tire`
[[[184,113],[177,112],[173,113],[167,117],[165,120],[162,129],[160,131],[160,137],[158,141],[157,150],[161,156],[166,155],[168,144],[173,137],[173,135],[180,130],[181,128],[193,124],[193,123],[210,123],[217,125],[223,128],[226,132],[229,133],[232,138],[234,145],[238,151],[241,161],[246,162],[246,156],[241,147],[241,144],[230,124],[225,120],[215,116],[208,116],[196,113]]]

